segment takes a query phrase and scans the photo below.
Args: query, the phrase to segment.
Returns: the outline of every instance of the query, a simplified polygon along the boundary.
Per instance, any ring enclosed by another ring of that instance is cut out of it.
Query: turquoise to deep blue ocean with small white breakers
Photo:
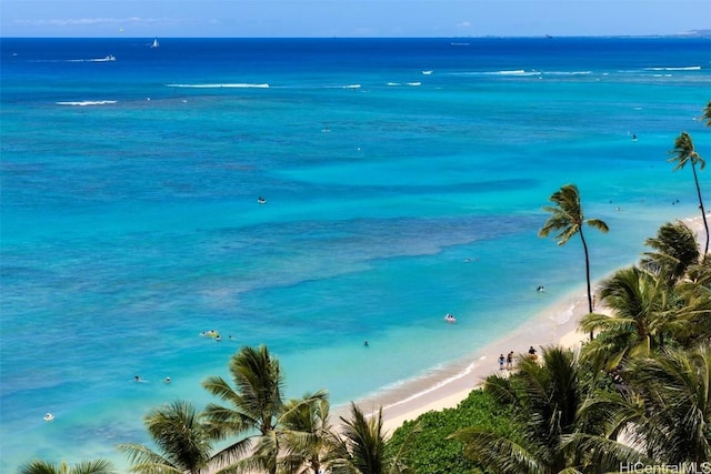
[[[699,212],[708,38],[152,40],[1,40],[1,472],[126,472],[243,345],[333,406],[468,360],[579,295],[567,183],[595,280]]]

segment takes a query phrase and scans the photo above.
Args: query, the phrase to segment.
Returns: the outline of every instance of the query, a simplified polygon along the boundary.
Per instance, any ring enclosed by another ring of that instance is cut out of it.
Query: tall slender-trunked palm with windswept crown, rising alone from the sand
[[[570,238],[578,234],[585,252],[585,281],[588,283],[588,309],[592,313],[592,290],[590,288],[590,255],[588,252],[588,243],[583,235],[583,224],[588,224],[602,233],[607,233],[609,228],[599,219],[585,219],[582,213],[582,204],[580,202],[580,193],[574,184],[565,184],[559,191],[550,196],[550,201],[555,206],[544,206],[543,210],[552,215],[545,221],[545,224],[538,232],[539,236],[547,238],[551,232],[557,232],[555,239],[559,245],[564,245]],[[590,333],[592,341],[593,333]]]

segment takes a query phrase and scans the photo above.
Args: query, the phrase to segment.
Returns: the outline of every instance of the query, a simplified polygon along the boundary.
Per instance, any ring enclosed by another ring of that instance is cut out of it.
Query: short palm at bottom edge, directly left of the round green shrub
[[[398,452],[388,448],[382,427],[382,409],[368,418],[351,402],[351,415],[343,422],[342,435],[336,435],[330,452],[329,467],[332,474],[404,474],[405,445]]]

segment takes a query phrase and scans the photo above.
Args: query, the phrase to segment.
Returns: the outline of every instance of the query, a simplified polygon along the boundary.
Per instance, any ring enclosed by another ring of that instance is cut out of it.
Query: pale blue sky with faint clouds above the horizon
[[[1,37],[649,36],[711,30],[711,0],[2,0]]]

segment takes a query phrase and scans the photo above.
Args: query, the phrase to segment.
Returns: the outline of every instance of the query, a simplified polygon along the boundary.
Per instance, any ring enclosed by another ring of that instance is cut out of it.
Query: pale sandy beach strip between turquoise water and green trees
[[[698,218],[678,219],[697,233],[701,243],[705,239],[703,220]],[[661,223],[660,225],[662,225]],[[634,260],[630,264],[635,264]],[[617,271],[619,269],[615,269]],[[614,272],[613,271],[613,272]],[[611,273],[610,273],[611,274]],[[605,275],[593,282],[593,288]],[[432,370],[422,376],[403,381],[356,401],[367,415],[374,415],[382,407],[383,433],[390,436],[405,421],[415,420],[423,413],[457,407],[472,390],[481,386],[487,376],[499,371],[500,353],[527,352],[529,346],[560,344],[577,347],[588,340],[588,334],[578,331],[580,319],[588,313],[585,284],[562,295],[549,306],[534,314],[513,332],[504,334],[470,353],[465,359]],[[347,417],[349,406],[338,406],[333,414]]]

